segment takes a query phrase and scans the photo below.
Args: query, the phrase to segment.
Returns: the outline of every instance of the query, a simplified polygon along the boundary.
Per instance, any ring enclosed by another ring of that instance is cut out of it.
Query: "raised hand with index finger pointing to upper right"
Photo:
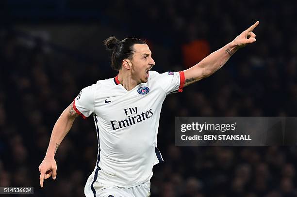
[[[259,21],[255,22],[247,30],[243,31],[239,36],[234,39],[234,44],[237,47],[244,47],[247,44],[256,42],[256,34],[252,32],[259,25]]]

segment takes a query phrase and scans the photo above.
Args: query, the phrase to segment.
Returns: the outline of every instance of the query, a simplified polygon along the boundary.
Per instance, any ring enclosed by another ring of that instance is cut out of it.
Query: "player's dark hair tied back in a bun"
[[[104,40],[104,45],[108,51],[111,51],[112,68],[119,71],[122,67],[122,61],[125,59],[132,60],[132,55],[135,53],[133,45],[147,44],[145,41],[138,38],[125,38],[119,41],[115,36],[111,36]]]

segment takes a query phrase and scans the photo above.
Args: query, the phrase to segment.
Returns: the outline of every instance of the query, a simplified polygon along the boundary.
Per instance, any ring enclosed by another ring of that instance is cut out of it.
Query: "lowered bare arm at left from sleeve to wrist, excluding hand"
[[[56,121],[50,136],[47,156],[54,157],[60,143],[71,129],[75,117],[69,116],[69,113],[69,107],[67,107]]]

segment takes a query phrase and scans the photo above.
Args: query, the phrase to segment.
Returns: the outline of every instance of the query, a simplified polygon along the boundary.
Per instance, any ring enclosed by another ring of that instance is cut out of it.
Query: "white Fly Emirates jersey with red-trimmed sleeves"
[[[162,103],[183,84],[182,71],[149,71],[148,82],[131,91],[117,76],[82,89],[73,108],[83,118],[94,117],[99,144],[94,182],[134,187],[152,177],[152,167],[163,161],[157,148]]]

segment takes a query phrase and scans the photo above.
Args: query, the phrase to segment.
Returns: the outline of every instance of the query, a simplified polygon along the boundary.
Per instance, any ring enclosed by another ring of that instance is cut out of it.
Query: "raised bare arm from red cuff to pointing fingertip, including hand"
[[[229,58],[241,47],[247,44],[256,42],[256,34],[252,32],[259,24],[257,21],[250,26],[247,30],[243,31],[237,36],[231,43],[223,46],[222,48],[214,51],[209,56],[204,58],[198,64],[191,68],[184,70],[184,86],[190,85],[196,81],[199,81],[205,77],[211,76],[215,71],[220,69]]]

